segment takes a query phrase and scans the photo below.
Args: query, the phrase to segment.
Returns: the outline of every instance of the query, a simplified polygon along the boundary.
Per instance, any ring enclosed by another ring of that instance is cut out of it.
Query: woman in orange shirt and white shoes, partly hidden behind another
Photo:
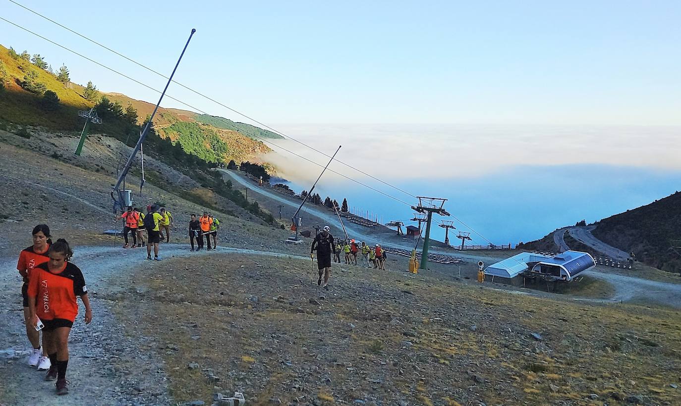
[[[33,352],[29,356],[29,365],[37,367],[39,370],[48,369],[50,367],[50,358],[47,352],[40,346],[40,333],[35,331],[35,328],[29,323],[31,311],[29,310],[29,275],[33,268],[48,260],[47,250],[50,248],[52,240],[50,239],[50,227],[47,224],[38,224],[33,227],[33,245],[25,248],[19,254],[19,262],[16,264],[16,269],[24,278],[24,285],[21,287],[21,295],[24,299],[24,320],[26,322],[26,335],[33,345]]]

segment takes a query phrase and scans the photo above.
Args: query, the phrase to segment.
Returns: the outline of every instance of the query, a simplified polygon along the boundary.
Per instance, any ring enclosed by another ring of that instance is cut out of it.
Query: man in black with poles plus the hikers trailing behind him
[[[321,232],[315,236],[312,241],[310,249],[310,258],[315,259],[315,251],[317,251],[317,269],[319,270],[319,279],[317,286],[322,286],[325,290],[329,290],[329,278],[331,277],[331,254],[334,255],[334,262],[340,263],[340,253],[345,252],[345,263],[348,265],[358,265],[357,256],[362,253],[362,266],[374,269],[385,269],[385,250],[380,244],[376,244],[374,248],[368,246],[364,241],[358,246],[354,239],[342,241],[334,239],[330,233],[329,226],[324,226]],[[323,285],[322,285],[323,282]]]

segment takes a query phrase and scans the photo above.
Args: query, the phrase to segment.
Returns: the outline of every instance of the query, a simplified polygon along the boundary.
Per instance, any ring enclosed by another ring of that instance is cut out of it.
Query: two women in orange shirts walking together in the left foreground
[[[46,224],[35,226],[32,235],[33,245],[20,252],[16,265],[24,282],[26,335],[33,346],[28,362],[47,371],[44,379],[56,381],[57,394],[67,394],[68,341],[78,315],[77,298],[85,306],[86,323],[92,321],[92,308],[83,274],[69,261],[74,254],[69,243],[61,238],[52,243]]]

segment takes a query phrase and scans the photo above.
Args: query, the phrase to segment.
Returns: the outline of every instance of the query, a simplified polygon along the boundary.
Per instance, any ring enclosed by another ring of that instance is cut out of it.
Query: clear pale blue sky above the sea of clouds
[[[176,79],[268,123],[681,124],[679,1],[20,2],[164,73],[196,28]],[[7,0],[0,15],[164,84]],[[0,27],[1,44],[66,63],[75,82],[157,99]]]

